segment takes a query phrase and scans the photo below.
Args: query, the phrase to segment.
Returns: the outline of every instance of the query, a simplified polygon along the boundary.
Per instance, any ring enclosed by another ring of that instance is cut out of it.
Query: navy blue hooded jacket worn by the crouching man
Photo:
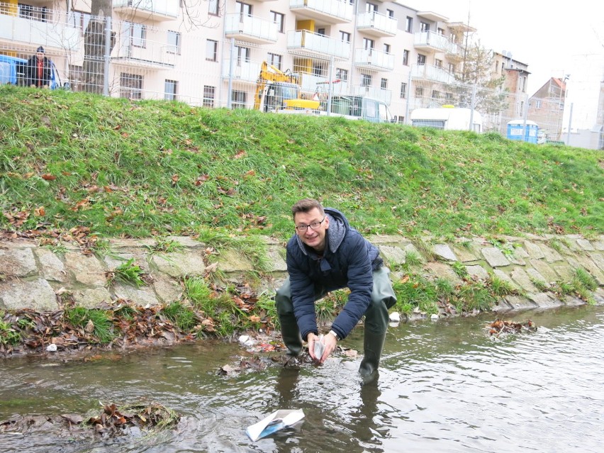
[[[302,338],[318,334],[315,293],[348,288],[344,308],[332,323],[332,330],[345,338],[362,318],[371,302],[373,271],[384,264],[378,248],[352,228],[347,218],[334,208],[325,208],[329,228],[325,250],[319,256],[298,235],[287,243],[287,272],[291,284],[293,313]]]

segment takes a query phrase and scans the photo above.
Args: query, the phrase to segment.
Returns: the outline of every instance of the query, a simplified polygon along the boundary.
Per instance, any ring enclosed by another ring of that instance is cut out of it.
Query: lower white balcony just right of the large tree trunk
[[[123,67],[141,67],[147,69],[172,69],[177,55],[174,45],[152,40],[125,38],[113,49],[111,62]]]

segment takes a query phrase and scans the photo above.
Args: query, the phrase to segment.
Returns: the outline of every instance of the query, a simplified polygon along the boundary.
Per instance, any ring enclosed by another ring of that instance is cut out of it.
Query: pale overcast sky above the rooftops
[[[451,22],[476,28],[483,47],[512,53],[528,65],[530,96],[549,81],[564,78],[565,116],[573,105],[572,128],[592,128],[604,80],[604,1],[398,0],[419,11],[432,11]],[[568,124],[566,122],[566,124]]]

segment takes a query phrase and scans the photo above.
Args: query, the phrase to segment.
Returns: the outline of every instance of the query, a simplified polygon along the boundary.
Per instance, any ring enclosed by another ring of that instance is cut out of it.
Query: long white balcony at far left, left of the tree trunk
[[[59,54],[79,50],[82,32],[68,25],[64,11],[31,7],[30,12],[28,17],[0,14],[0,43],[8,43],[9,48],[16,44],[42,45],[47,52]]]

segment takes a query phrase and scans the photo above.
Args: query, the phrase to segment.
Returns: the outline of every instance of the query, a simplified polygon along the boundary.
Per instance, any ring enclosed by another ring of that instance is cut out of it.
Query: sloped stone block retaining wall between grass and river
[[[38,246],[33,240],[0,240],[0,309],[56,310],[57,293],[65,291],[78,305],[88,308],[118,298],[142,306],[157,305],[179,300],[183,276],[203,276],[219,270],[230,280],[242,281],[246,272],[254,270],[237,250],[218,250],[217,255],[208,257],[206,245],[191,237],[168,240],[178,242],[182,249],[160,253],[152,252],[153,239],[110,240],[109,252],[102,258],[86,255],[75,246],[57,252]],[[598,282],[600,287],[594,296],[598,303],[604,303],[604,236],[595,240],[578,235],[505,237],[505,244],[498,247],[483,238],[459,238],[454,244],[423,242],[430,243],[420,247],[423,252],[414,245],[418,242],[401,236],[374,236],[369,240],[379,247],[393,269],[405,264],[408,253],[413,252],[422,261],[420,269],[427,276],[460,283],[452,267],[458,262],[476,279],[488,279],[492,273],[526,294],[506,296],[498,310],[583,303],[572,297],[559,301],[550,292],[540,292],[533,283],[569,281],[578,268],[585,269]],[[265,242],[272,269],[264,274],[262,287],[272,291],[286,276],[285,250],[281,242],[269,238]],[[131,258],[152,277],[152,282],[140,288],[120,282],[109,285],[106,273]],[[393,272],[393,279],[401,276],[401,272]]]

